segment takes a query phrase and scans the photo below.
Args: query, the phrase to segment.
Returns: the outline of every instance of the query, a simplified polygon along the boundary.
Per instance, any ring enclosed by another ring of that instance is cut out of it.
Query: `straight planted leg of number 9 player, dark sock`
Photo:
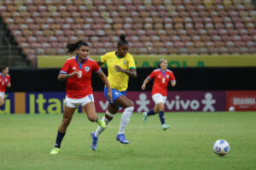
[[[72,107],[68,107],[67,105],[65,105],[64,112],[63,112],[63,118],[61,121],[61,125],[58,129],[58,133],[57,133],[57,137],[56,137],[56,141],[55,141],[55,148],[50,151],[50,154],[56,155],[59,153],[60,148],[61,148],[62,139],[64,138],[64,136],[66,134],[67,127],[72,120],[73,113],[75,110],[76,110],[76,106],[73,105]]]

